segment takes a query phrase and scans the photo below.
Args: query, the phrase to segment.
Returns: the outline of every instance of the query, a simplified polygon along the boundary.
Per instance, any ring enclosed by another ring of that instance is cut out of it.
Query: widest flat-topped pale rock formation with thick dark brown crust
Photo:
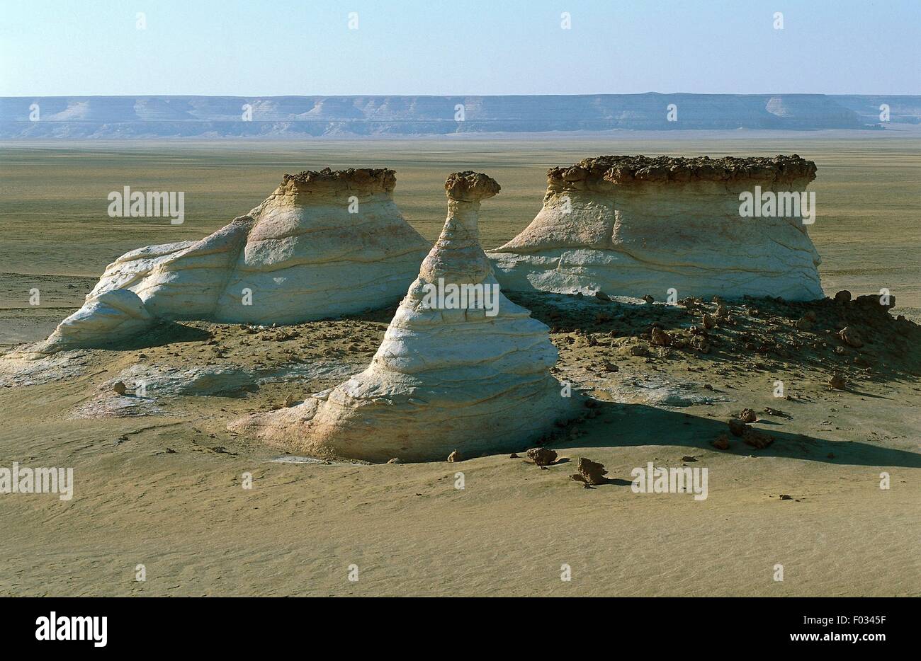
[[[540,213],[489,257],[510,291],[821,298],[799,200],[787,217],[744,217],[740,200],[803,192],[815,171],[797,155],[588,158],[548,170]]]

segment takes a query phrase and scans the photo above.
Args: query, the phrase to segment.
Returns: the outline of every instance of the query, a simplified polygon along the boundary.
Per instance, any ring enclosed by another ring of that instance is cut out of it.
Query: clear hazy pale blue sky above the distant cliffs
[[[2,0],[0,96],[919,94],[919,44],[921,0]]]

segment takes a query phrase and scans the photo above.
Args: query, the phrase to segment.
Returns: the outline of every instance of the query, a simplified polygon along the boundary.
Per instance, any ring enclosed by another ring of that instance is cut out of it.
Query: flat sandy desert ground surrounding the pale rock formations
[[[540,209],[547,167],[618,153],[816,161],[810,235],[826,294],[885,287],[896,307],[745,301],[700,354],[634,349],[647,347],[656,322],[689,333],[700,310],[517,296],[552,328],[557,376],[597,401],[546,439],[561,457],[546,470],[523,452],[460,463],[279,461],[227,432],[242,414],[360,371],[392,308],[285,329],[164,325],[118,350],[41,361],[19,351],[79,307],[115,257],[204,237],[262,201],[284,172],[395,168],[396,202],[429,239],[444,222],[445,176],[486,172],[503,187],[483,209],[492,248]],[[70,501],[0,494],[0,594],[921,595],[918,133],[17,143],[0,145],[0,159],[0,467],[73,467],[76,480]],[[186,191],[184,224],[109,218],[106,195],[124,185]],[[41,307],[29,307],[32,287]],[[816,321],[798,329],[807,313]],[[844,325],[867,344],[841,342]],[[834,372],[845,388],[828,386]],[[113,391],[136,378],[146,397]],[[770,445],[729,434],[745,408]],[[712,445],[722,435],[725,450]],[[579,457],[603,463],[611,481],[572,481]],[[647,462],[706,468],[708,497],[633,493],[631,470]],[[144,582],[134,580],[138,564]],[[350,565],[359,580],[349,580]]]

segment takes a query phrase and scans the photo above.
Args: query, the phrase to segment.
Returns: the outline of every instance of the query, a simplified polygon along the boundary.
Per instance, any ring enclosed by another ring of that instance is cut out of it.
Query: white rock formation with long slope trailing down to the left
[[[395,182],[391,169],[285,175],[209,237],[122,255],[40,349],[102,346],[156,319],[287,324],[395,303],[429,249]]]

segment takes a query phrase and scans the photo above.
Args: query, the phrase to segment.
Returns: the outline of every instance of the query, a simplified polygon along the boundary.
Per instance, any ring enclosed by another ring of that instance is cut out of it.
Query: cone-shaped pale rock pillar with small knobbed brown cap
[[[557,359],[549,329],[502,295],[480,247],[480,201],[498,184],[460,172],[445,190],[444,229],[371,365],[231,430],[311,456],[443,461],[455,450],[477,457],[520,449],[575,414],[575,398],[562,396],[549,372]]]

